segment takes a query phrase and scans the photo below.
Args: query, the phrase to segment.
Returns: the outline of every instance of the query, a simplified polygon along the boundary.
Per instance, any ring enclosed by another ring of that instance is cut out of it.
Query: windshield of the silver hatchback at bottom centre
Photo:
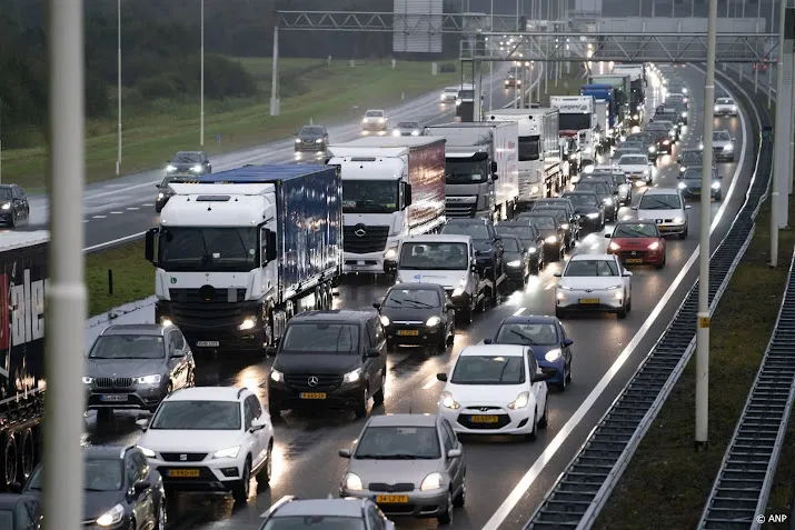
[[[369,427],[356,444],[357,460],[436,460],[441,458],[435,427]]]

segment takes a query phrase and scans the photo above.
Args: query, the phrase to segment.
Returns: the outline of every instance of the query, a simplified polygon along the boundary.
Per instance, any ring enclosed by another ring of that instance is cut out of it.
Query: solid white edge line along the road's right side
[[[718,84],[725,92],[728,93],[723,83],[716,81],[716,84]],[[739,173],[742,172],[743,166],[745,163],[745,153],[747,144],[749,141],[753,141],[746,134],[745,121],[746,113],[744,112],[741,120],[741,126],[743,129],[743,149],[739,153],[739,163],[737,164],[737,169],[734,172],[734,179],[732,180],[732,186],[728,188],[726,198],[724,199],[723,204],[721,204],[721,208],[718,209],[717,213],[715,214],[715,218],[713,219],[712,224],[709,226],[710,234],[713,231],[715,231],[715,228],[721,221],[724,211],[731,202],[732,193],[734,192],[735,184],[739,179]],[[491,519],[486,522],[486,524],[483,527],[483,530],[497,530],[499,526],[503,524],[503,522],[508,518],[514,508],[516,508],[516,504],[518,504],[521,498],[527,493],[527,490],[530,489],[530,486],[533,486],[536,479],[541,474],[541,471],[544,470],[546,464],[551,460],[558,449],[560,449],[560,446],[563,446],[563,443],[568,439],[572,432],[574,432],[577,426],[585,419],[585,416],[588,413],[592,407],[594,407],[596,401],[609,386],[610,381],[613,381],[616,374],[620,371],[622,367],[624,367],[626,361],[629,359],[629,356],[632,356],[632,353],[635,351],[635,348],[637,348],[640,341],[646,337],[646,333],[648,333],[655,320],[657,320],[657,317],[659,317],[659,313],[663,312],[665,307],[668,304],[668,301],[670,301],[670,299],[674,297],[674,292],[676,292],[676,289],[679,287],[679,283],[684,281],[685,277],[695,264],[699,251],[700,246],[696,247],[696,249],[693,251],[690,258],[687,260],[677,277],[674,279],[674,282],[670,284],[668,290],[665,291],[665,294],[663,294],[663,298],[659,300],[659,302],[657,302],[657,306],[655,306],[654,310],[643,323],[640,329],[637,331],[637,333],[635,333],[633,340],[629,341],[626,348],[624,348],[624,351],[620,352],[620,354],[609,368],[609,370],[607,370],[607,372],[603,376],[602,380],[596,384],[596,387],[594,387],[594,390],[590,391],[588,397],[585,398],[583,404],[579,406],[577,411],[572,414],[572,418],[568,419],[566,424],[563,426],[557,436],[555,436],[555,438],[544,449],[544,452],[541,452],[538,459],[533,462],[530,469],[528,469],[525,476],[521,477],[514,490],[508,494],[505,501],[503,501],[503,504],[497,508],[497,511],[495,511],[494,516],[491,516]]]

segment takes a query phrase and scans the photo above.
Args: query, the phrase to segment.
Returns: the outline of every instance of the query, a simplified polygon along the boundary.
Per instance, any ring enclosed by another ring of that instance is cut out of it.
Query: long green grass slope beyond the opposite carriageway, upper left
[[[460,73],[430,74],[429,62],[347,61],[327,64],[314,59],[282,59],[281,114],[269,116],[270,59],[240,59],[261,87],[249,100],[206,101],[205,147],[212,156],[290,137],[312,119],[330,123],[358,118],[368,107],[388,107],[405,98],[453,84]],[[123,104],[123,100],[122,100]],[[200,149],[198,101],[148,101],[143,109],[122,107],[122,173],[165,166],[179,150]],[[87,123],[86,180],[116,173],[116,118]],[[3,180],[29,192],[43,191],[48,150],[3,151]]]

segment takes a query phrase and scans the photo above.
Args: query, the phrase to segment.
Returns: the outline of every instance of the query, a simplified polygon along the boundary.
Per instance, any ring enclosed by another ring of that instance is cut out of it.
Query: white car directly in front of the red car
[[[575,254],[566,263],[555,288],[555,316],[569,311],[614,312],[626,318],[633,308],[633,273],[616,256]]]

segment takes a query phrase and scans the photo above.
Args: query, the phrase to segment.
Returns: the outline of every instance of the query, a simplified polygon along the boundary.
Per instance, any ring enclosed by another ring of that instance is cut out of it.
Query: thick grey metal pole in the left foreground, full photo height
[[[49,2],[50,276],[46,291],[44,530],[83,520],[82,388],[86,348],[82,199],[86,173],[86,48],[82,0]]]

